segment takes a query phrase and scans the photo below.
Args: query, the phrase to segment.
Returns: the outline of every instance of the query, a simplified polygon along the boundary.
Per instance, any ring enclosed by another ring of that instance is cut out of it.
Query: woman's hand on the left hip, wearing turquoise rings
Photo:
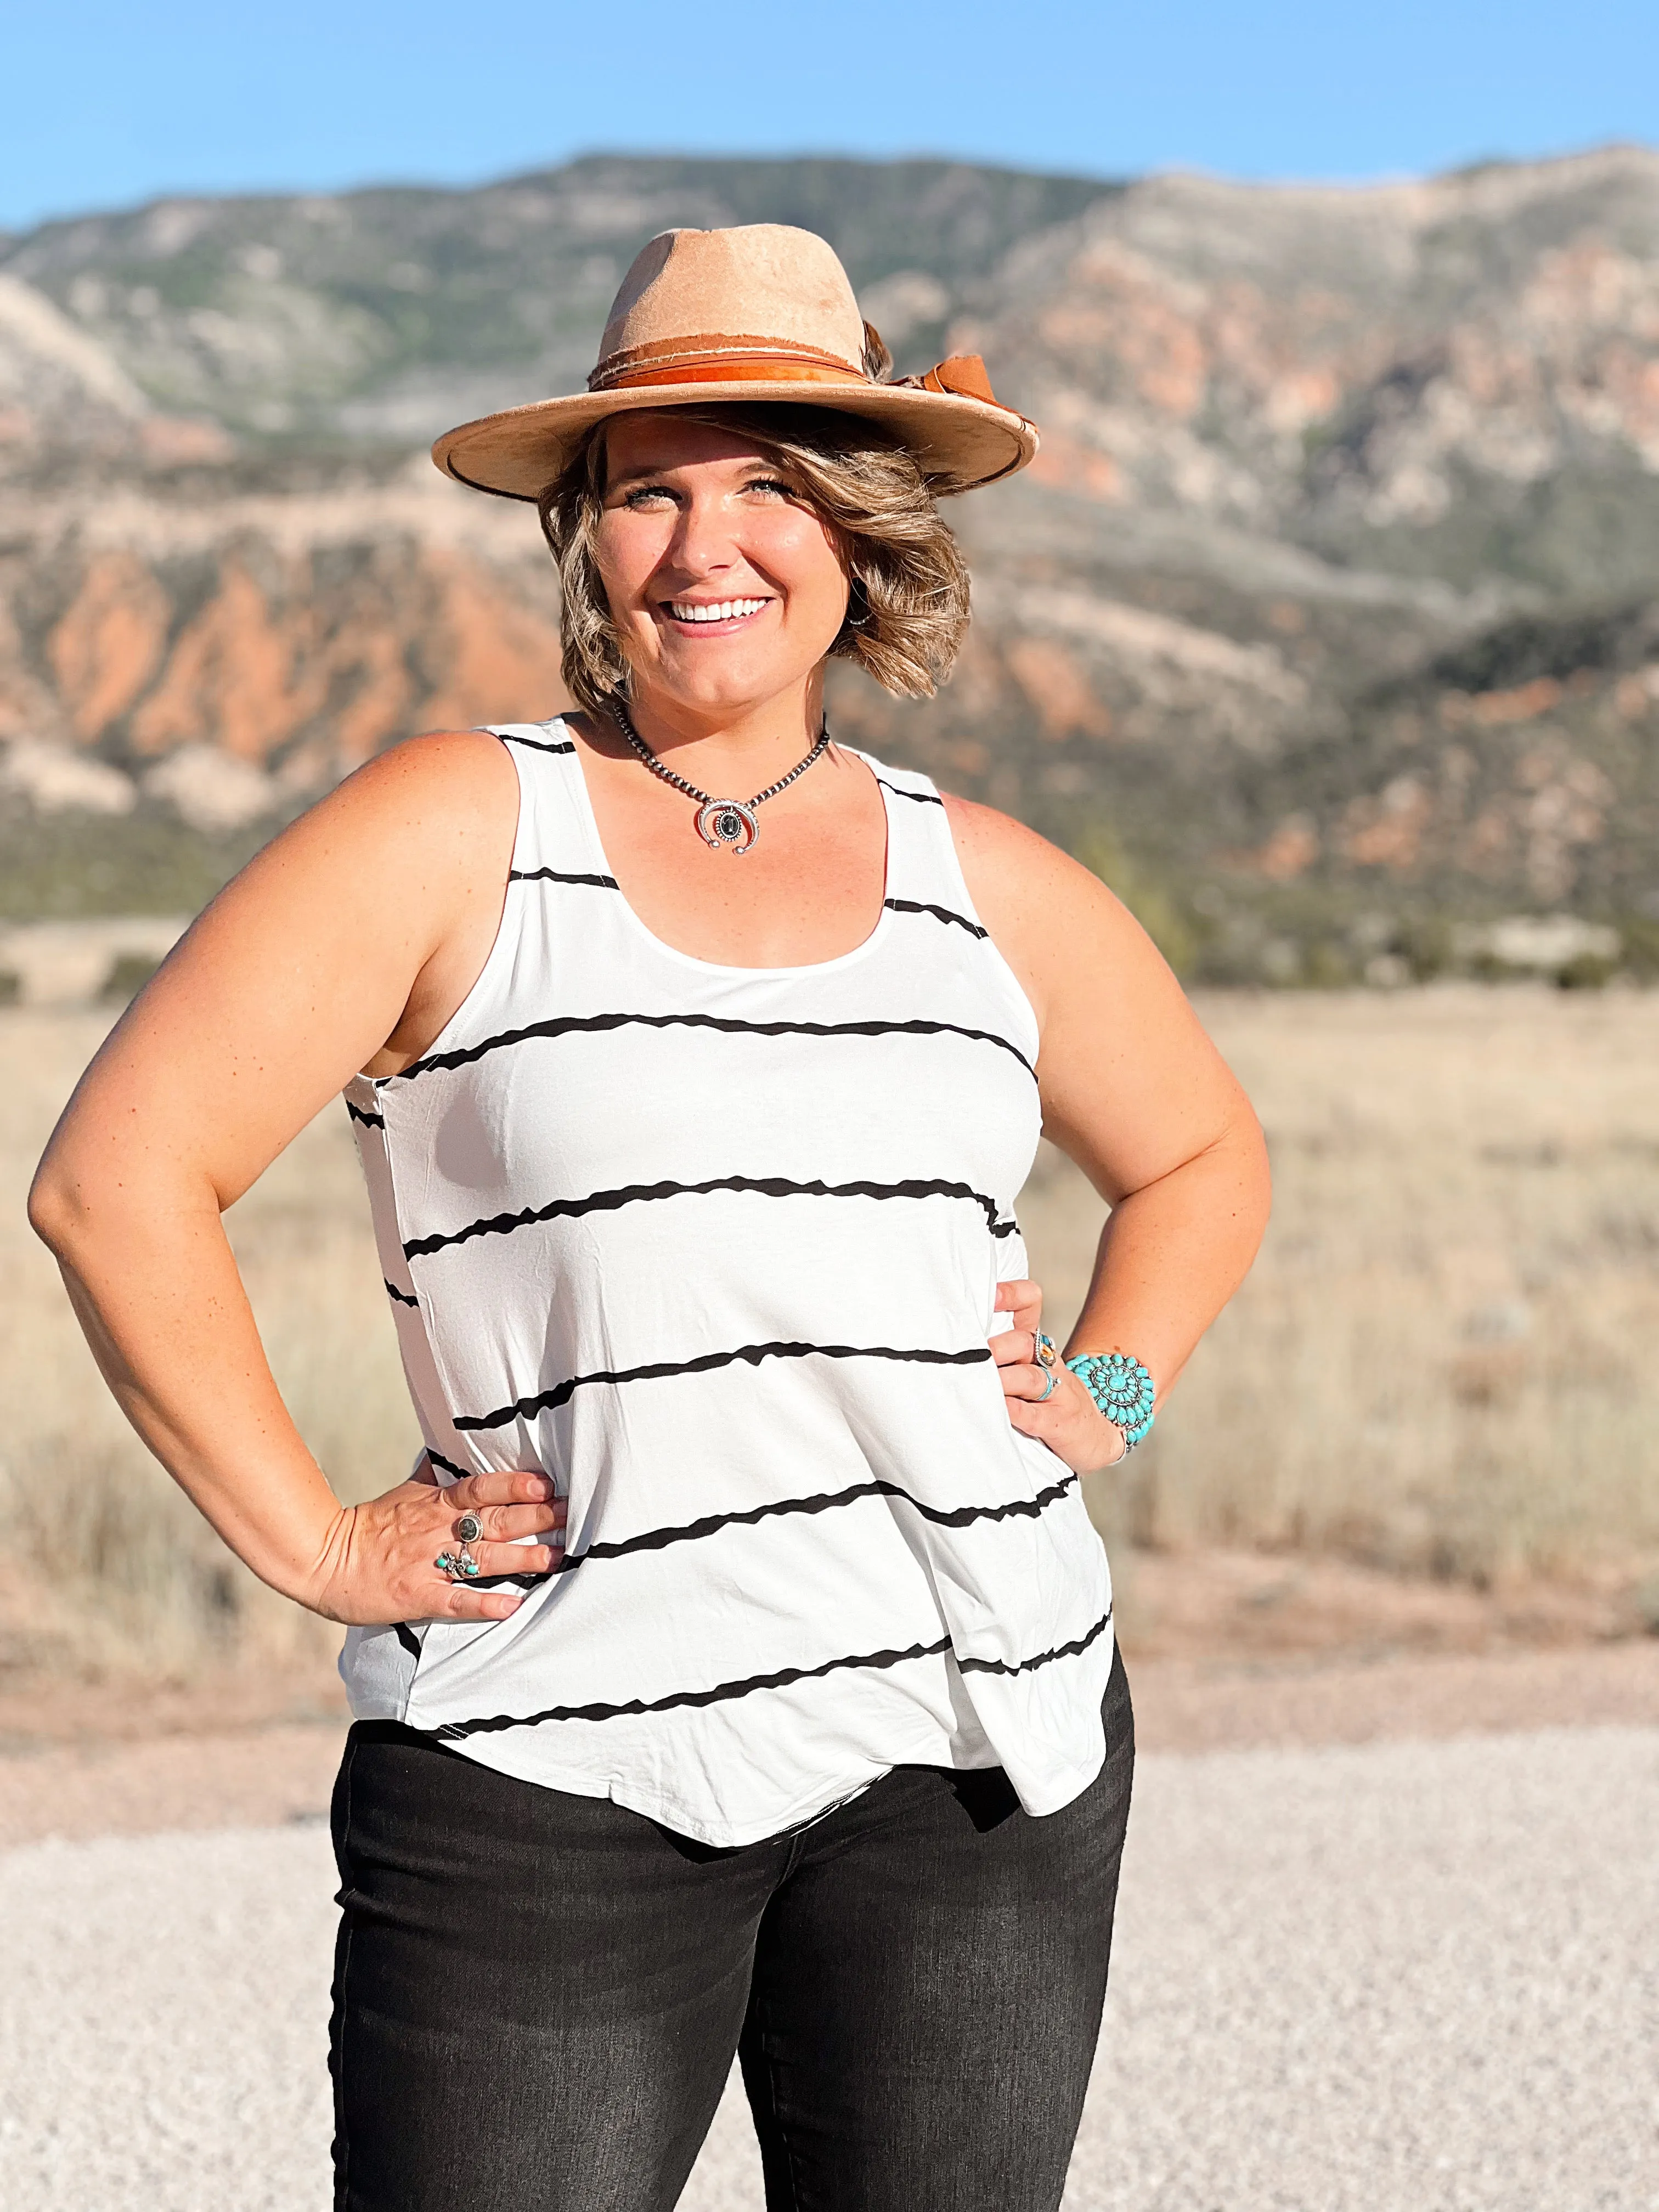
[[[480,1579],[491,1575],[546,1575],[564,1555],[566,1504],[553,1495],[546,1475],[467,1475],[440,1489],[420,1462],[420,1473],[361,1506],[341,1506],[312,1586],[294,1595],[312,1613],[358,1628],[392,1621],[504,1621],[524,1604],[520,1590],[482,1590],[478,1582],[451,1582],[436,1559],[460,1551],[456,1522],[476,1513],[484,1533],[471,1553]],[[546,1544],[513,1544],[511,1537],[551,1535]]]

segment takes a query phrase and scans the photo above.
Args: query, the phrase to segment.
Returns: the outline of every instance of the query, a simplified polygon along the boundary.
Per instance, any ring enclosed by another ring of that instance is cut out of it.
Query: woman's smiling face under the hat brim
[[[635,697],[726,719],[803,686],[847,571],[776,460],[664,409],[617,416],[606,462],[595,555]]]

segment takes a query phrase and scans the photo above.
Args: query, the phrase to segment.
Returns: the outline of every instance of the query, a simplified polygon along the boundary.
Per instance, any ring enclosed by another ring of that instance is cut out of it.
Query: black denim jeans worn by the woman
[[[1033,1820],[896,1767],[719,1851],[361,1721],[334,1787],[336,2208],[666,2212],[732,2053],[770,2212],[1055,2212],[1106,1995],[1135,1723]]]

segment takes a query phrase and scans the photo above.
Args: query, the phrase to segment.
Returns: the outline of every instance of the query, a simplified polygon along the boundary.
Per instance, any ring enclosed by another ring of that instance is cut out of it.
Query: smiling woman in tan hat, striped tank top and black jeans
[[[349,1624],[341,2205],[672,2205],[734,2053],[770,2205],[1060,2201],[1133,1763],[1077,1473],[1265,1166],[1093,876],[827,739],[830,655],[949,670],[933,493],[1035,451],[978,363],[885,367],[821,239],[668,232],[588,394],[440,440],[540,500],[582,712],[283,832],[40,1170],[139,1433]],[[338,1088],[427,1438],[358,1506],[219,1225]],[[1071,1365],[1040,1126],[1115,1208]]]

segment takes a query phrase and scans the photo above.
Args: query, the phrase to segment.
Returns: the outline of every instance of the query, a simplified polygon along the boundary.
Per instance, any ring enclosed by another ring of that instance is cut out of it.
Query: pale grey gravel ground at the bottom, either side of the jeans
[[[1655,2212],[1655,1834],[1657,1728],[1148,1756],[1066,2212]],[[330,1891],[314,1820],[0,1854],[7,2212],[325,2205]],[[684,2212],[757,2205],[728,2097]]]

